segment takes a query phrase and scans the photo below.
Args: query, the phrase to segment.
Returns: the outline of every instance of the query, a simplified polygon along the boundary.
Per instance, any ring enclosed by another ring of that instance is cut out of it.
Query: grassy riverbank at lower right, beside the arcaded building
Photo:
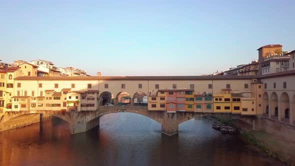
[[[235,119],[229,116],[208,116],[206,118],[239,128]],[[263,152],[265,155],[276,158],[287,165],[295,165],[295,142],[286,141],[283,137],[274,136],[265,131],[246,131],[242,128],[240,129],[240,137],[245,142],[254,145],[253,150]]]

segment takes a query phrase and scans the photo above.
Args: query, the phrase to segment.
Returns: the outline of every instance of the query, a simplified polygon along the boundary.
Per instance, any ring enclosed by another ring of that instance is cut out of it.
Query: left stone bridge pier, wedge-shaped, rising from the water
[[[93,127],[99,126],[99,117],[88,122],[85,120],[69,122],[69,132],[71,134],[85,132]]]

